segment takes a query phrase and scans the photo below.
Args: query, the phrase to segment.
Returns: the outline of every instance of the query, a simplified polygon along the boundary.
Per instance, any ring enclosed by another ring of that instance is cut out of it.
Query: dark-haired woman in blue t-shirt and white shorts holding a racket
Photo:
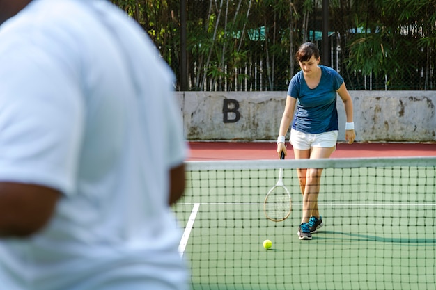
[[[285,135],[292,121],[290,143],[295,159],[329,158],[338,139],[336,92],[341,97],[347,118],[345,140],[355,140],[352,99],[343,78],[331,67],[319,65],[320,52],[312,42],[302,44],[295,55],[300,72],[289,83],[286,106],[281,118],[277,153],[285,152]],[[295,115],[295,104],[297,103]],[[312,233],[324,224],[318,210],[318,193],[322,169],[299,168],[297,175],[303,195],[303,216],[299,239],[312,239]]]

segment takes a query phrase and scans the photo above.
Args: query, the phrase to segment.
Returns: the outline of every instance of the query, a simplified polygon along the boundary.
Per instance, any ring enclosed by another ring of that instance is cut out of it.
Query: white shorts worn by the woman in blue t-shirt
[[[291,129],[289,141],[297,150],[309,150],[311,147],[331,148],[335,147],[338,141],[338,130],[308,134]]]

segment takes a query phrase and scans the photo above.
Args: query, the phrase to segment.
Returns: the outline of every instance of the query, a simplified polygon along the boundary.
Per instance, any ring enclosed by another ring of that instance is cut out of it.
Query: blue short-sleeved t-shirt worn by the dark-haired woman
[[[298,100],[292,128],[304,133],[318,134],[338,130],[336,90],[343,78],[331,67],[320,65],[321,79],[316,88],[309,88],[300,71],[290,80],[288,95]]]

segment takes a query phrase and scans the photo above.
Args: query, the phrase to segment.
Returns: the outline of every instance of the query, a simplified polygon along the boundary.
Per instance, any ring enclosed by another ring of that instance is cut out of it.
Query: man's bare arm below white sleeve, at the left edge
[[[0,236],[26,237],[52,217],[61,193],[35,184],[0,182]]]

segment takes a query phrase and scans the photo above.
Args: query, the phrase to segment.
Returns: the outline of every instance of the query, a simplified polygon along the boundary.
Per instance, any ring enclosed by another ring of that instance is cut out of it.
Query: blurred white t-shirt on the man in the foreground
[[[41,232],[0,240],[1,289],[187,289],[167,205],[186,145],[141,28],[107,1],[33,0],[0,64],[0,181],[63,193]]]

